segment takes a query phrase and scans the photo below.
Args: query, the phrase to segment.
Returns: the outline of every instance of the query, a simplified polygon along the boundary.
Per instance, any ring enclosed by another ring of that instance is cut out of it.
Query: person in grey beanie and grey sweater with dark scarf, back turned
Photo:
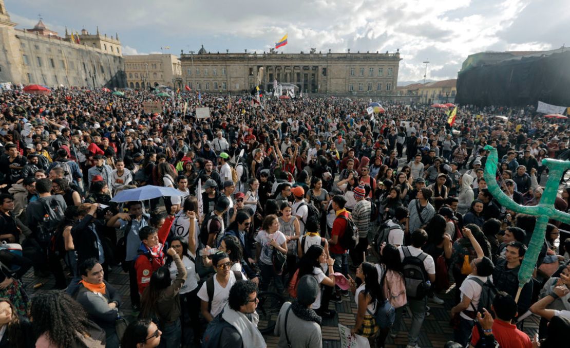
[[[274,335],[279,336],[279,347],[321,348],[323,334],[321,317],[311,305],[320,294],[319,283],[315,277],[303,276],[297,282],[297,298],[285,302],[279,310],[275,323]]]

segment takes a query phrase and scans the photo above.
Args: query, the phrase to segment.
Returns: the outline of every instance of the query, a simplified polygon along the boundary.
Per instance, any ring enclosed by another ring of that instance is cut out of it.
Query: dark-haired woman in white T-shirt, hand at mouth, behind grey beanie
[[[307,252],[303,255],[299,261],[299,268],[297,272],[297,280],[306,274],[310,274],[315,277],[317,283],[320,284],[321,289],[323,289],[323,295],[321,297],[321,292],[317,294],[315,302],[312,304],[311,308],[316,311],[321,317],[332,318],[335,316],[334,310],[328,309],[328,303],[331,301],[332,292],[335,288],[336,279],[333,276],[335,271],[332,268],[335,260],[328,257],[325,250],[320,245],[311,245]],[[321,264],[327,264],[327,274],[321,268]],[[293,286],[296,286],[294,284]]]

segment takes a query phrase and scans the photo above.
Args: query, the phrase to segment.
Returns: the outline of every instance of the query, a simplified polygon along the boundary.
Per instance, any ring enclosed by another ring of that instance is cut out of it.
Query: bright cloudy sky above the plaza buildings
[[[115,35],[124,54],[268,51],[395,52],[400,81],[456,78],[481,51],[549,50],[570,45],[568,0],[5,0],[19,28],[41,14],[50,29]]]

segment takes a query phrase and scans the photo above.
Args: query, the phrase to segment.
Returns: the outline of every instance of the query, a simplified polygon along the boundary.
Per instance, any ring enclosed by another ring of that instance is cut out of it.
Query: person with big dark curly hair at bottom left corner
[[[36,348],[105,346],[105,331],[66,293],[50,290],[36,294],[30,319]]]

